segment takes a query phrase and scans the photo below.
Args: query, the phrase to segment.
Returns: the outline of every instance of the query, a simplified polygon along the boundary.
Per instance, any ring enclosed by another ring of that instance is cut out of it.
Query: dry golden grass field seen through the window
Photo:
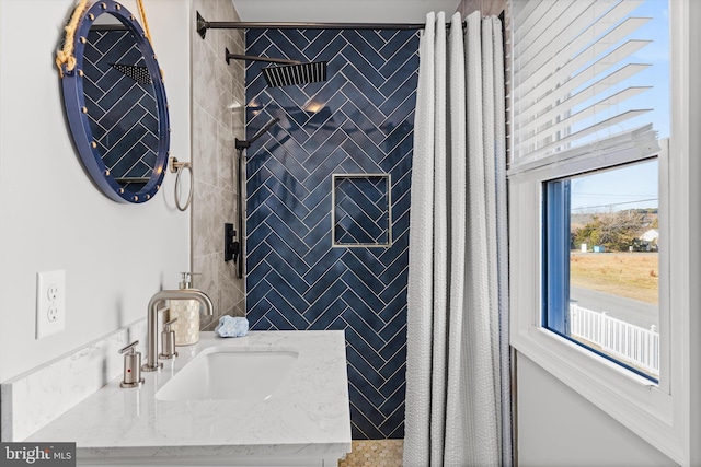
[[[572,253],[572,285],[659,303],[656,253]]]

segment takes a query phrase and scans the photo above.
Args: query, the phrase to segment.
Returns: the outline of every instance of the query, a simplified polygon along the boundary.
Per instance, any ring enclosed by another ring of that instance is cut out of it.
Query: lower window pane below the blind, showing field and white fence
[[[543,184],[542,326],[659,377],[657,160]]]

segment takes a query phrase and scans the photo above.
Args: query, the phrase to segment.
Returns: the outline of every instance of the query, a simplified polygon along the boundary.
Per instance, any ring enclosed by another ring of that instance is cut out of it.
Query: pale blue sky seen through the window
[[[652,67],[633,77],[625,86],[653,85],[653,89],[631,98],[625,106],[627,108],[652,108],[653,110],[632,119],[625,125],[625,129],[652,122],[658,138],[668,138],[670,127],[668,2],[667,0],[646,0],[633,11],[632,15],[652,17],[648,23],[631,36],[632,38],[653,40],[652,44],[640,49],[631,60],[635,63],[651,63]],[[652,161],[574,178],[572,183],[572,211],[584,213],[656,208],[657,173],[657,161]]]

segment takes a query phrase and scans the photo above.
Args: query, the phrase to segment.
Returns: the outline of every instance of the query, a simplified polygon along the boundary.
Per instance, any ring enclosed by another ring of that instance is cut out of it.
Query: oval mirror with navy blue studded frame
[[[93,3],[73,37],[76,67],[61,67],[64,104],[83,166],[122,202],[160,189],[170,128],[160,68],[135,16],[115,1]]]

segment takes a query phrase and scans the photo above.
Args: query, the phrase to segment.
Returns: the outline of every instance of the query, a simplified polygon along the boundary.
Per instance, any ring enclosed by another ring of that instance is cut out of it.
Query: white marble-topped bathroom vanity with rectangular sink
[[[203,332],[177,351],[26,441],[76,442],[79,465],[327,467],[350,451],[343,331]]]

